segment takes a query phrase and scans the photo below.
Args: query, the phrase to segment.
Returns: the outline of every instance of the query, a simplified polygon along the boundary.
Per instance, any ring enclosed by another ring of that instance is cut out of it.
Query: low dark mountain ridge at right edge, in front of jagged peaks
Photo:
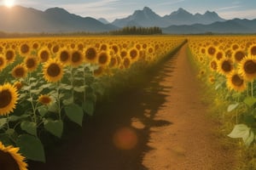
[[[212,33],[256,33],[256,19],[234,19],[224,22],[214,22],[210,25],[195,24],[191,26],[168,26],[162,28],[167,34],[201,34]]]

